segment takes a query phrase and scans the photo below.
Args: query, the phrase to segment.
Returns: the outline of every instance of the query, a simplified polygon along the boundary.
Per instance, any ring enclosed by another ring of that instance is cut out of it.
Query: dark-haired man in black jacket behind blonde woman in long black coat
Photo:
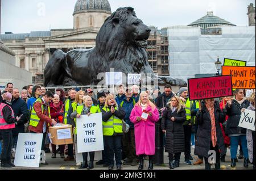
[[[168,100],[170,100],[172,96],[174,96],[174,93],[172,92],[172,87],[171,85],[167,84],[166,86],[164,86],[163,94],[159,95],[155,100],[155,106],[158,108],[159,111],[161,111],[161,113],[166,107]]]

